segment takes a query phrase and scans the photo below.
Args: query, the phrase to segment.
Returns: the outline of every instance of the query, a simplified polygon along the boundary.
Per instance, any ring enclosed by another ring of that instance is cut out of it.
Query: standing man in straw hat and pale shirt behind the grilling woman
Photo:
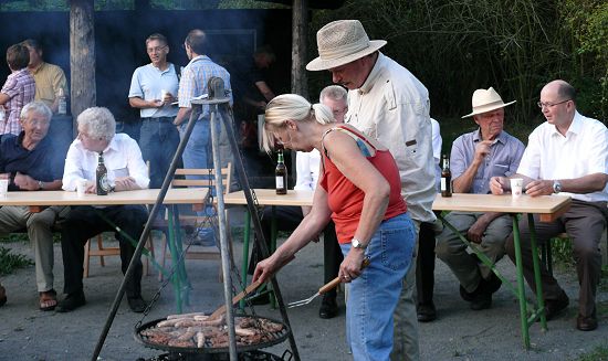
[[[319,56],[306,68],[332,72],[334,83],[349,91],[346,123],[389,148],[418,232],[420,223],[436,220],[429,93],[407,68],[378,51],[386,43],[370,41],[358,20],[334,21],[317,32]],[[409,267],[395,311],[392,360],[419,359],[415,279],[416,267]]]

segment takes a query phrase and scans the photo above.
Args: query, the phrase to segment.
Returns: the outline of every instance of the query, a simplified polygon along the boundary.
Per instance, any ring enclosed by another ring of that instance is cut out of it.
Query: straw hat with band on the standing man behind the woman
[[[361,59],[386,45],[385,40],[369,40],[358,20],[338,20],[316,33],[318,57],[306,65],[308,71],[325,71]]]

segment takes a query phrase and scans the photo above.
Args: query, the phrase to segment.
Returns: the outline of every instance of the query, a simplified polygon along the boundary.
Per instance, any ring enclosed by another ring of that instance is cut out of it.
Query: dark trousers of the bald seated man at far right
[[[539,222],[538,217],[534,216],[538,245],[563,232],[567,232],[573,240],[576,272],[578,284],[580,285],[578,291],[578,314],[584,317],[594,315],[596,310],[596,289],[601,272],[599,241],[606,227],[606,216],[608,216],[606,202],[591,203],[578,200],[573,200],[570,209],[552,223]],[[534,283],[527,214],[520,220],[520,233],[524,276],[530,287],[535,290],[536,285]],[[515,263],[513,234],[506,240],[505,247],[509,257]],[[545,300],[556,300],[563,290],[557,280],[543,265],[541,265],[541,280],[543,283],[543,297]]]

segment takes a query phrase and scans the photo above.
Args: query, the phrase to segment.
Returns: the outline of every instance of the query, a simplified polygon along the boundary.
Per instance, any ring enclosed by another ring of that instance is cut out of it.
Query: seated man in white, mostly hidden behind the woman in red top
[[[336,123],[344,123],[344,116],[348,112],[347,92],[339,85],[329,85],[321,91],[319,103],[332,109]],[[314,190],[318,180],[321,153],[317,150],[311,152],[298,151],[296,155],[296,184],[294,190]],[[310,206],[275,206],[276,227],[279,231],[293,231],[302,219],[311,212]],[[264,238],[270,245],[272,208],[265,208],[262,215],[262,231]],[[329,222],[323,232],[323,259],[324,259],[324,283],[328,283],[338,276],[339,265],[344,259],[336,237],[334,222]],[[250,274],[253,274],[259,259],[258,248],[254,245]],[[262,298],[263,297],[263,298]],[[334,288],[323,295],[318,317],[333,318],[338,314],[337,290]],[[268,296],[260,296],[256,302],[268,302]]]

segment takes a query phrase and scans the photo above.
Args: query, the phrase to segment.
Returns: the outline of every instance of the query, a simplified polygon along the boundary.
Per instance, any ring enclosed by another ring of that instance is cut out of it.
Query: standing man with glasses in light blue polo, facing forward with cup
[[[146,52],[151,63],[133,73],[128,98],[132,107],[140,109],[139,147],[144,161],[150,162],[150,188],[160,188],[179,145],[179,132],[172,125],[177,107],[171,106],[179,79],[174,64],[167,62],[165,35],[149,35]]]

